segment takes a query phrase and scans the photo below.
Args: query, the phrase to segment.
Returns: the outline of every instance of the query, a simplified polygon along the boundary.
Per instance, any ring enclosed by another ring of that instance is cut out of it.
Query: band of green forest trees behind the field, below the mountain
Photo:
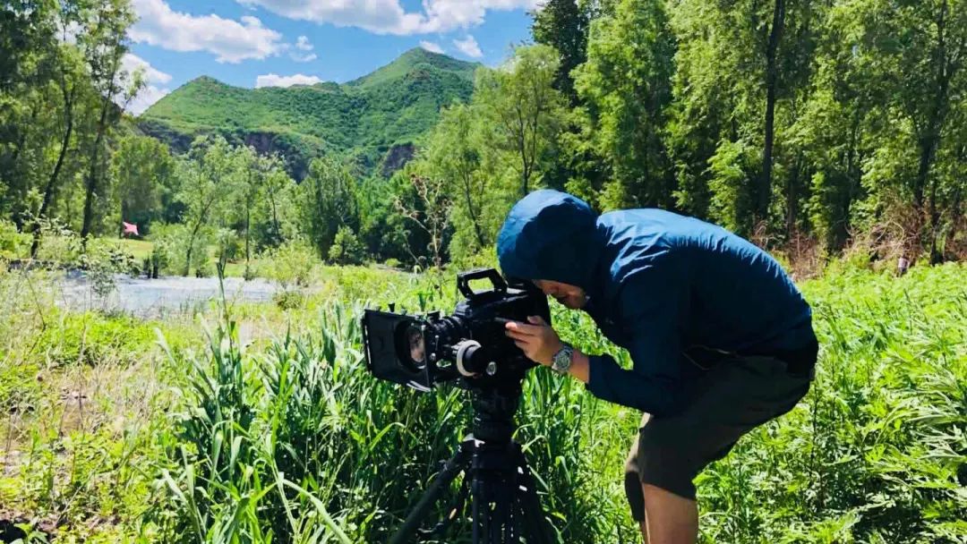
[[[4,7],[0,216],[31,253],[45,223],[86,239],[124,220],[181,247],[157,256],[170,272],[205,268],[192,244],[248,259],[294,241],[334,263],[425,267],[485,253],[513,202],[548,186],[814,258],[963,254],[955,1],[549,2],[532,43],[396,142],[417,150],[402,167],[348,151],[305,172],[217,129],[185,153],[144,135],[123,113],[143,85],[123,62],[132,20],[122,0]]]

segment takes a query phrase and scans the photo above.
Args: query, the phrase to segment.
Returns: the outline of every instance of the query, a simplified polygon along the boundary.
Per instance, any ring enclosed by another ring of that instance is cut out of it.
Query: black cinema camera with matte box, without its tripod
[[[484,279],[491,289],[471,288],[471,281]],[[535,365],[506,335],[505,325],[533,315],[550,323],[542,292],[529,282],[509,285],[494,269],[457,274],[456,285],[466,299],[446,317],[366,310],[366,366],[375,377],[424,391],[459,379],[486,387],[519,383]]]

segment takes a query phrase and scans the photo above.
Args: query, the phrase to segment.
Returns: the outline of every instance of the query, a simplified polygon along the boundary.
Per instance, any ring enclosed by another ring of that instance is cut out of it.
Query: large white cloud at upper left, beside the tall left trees
[[[191,15],[172,11],[164,0],[133,0],[140,19],[128,31],[132,41],[172,51],[208,51],[222,63],[264,59],[286,48],[282,35],[246,15],[240,21],[219,15]]]

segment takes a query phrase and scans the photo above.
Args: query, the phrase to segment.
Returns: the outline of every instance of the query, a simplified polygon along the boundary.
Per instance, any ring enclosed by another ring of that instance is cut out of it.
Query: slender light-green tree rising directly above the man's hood
[[[544,152],[564,123],[564,97],[552,86],[560,61],[547,45],[518,47],[497,70],[480,69],[474,105],[492,120],[494,145],[513,155],[519,195],[541,177]]]

